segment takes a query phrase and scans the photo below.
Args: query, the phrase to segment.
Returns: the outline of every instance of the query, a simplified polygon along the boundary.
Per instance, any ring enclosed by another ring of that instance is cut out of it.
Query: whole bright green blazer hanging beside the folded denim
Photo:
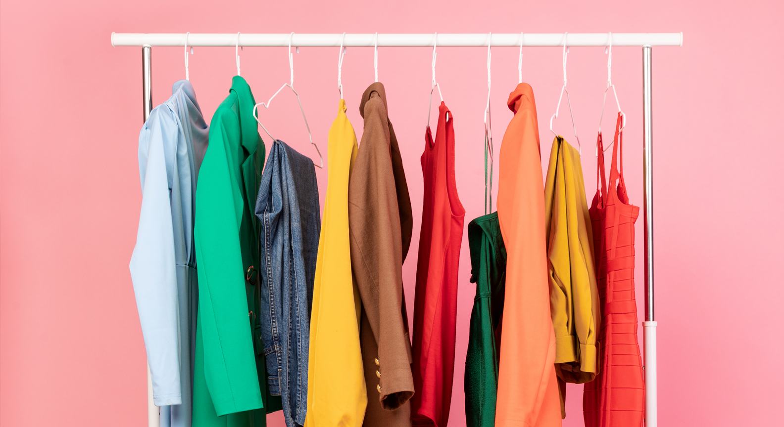
[[[199,170],[193,427],[264,426],[267,412],[281,407],[280,397],[267,399],[257,314],[260,226],[253,209],[264,143],[252,116],[255,104],[248,83],[235,76],[212,116]]]

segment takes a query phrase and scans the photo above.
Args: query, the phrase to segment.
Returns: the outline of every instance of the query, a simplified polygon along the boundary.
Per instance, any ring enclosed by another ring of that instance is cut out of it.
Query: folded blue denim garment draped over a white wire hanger
[[[286,425],[305,423],[310,306],[321,233],[316,171],[310,157],[276,140],[261,178],[261,337],[271,395]]]

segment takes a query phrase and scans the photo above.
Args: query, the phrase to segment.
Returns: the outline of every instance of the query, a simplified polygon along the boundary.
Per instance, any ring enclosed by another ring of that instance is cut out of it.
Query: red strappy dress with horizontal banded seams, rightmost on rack
[[[601,192],[597,188],[589,210],[601,300],[601,330],[599,373],[583,387],[586,427],[637,427],[643,425],[644,418],[645,385],[634,300],[634,222],[640,208],[629,204],[623,182],[621,121],[619,114],[609,189],[604,181],[604,147],[599,133],[597,187],[601,175]],[[616,168],[619,149],[620,172]]]

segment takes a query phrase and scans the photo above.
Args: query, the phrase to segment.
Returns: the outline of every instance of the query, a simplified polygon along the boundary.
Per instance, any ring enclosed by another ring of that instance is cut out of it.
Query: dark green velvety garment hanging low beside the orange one
[[[471,283],[477,284],[466,354],[466,426],[495,425],[501,315],[506,284],[506,248],[498,212],[468,224]]]

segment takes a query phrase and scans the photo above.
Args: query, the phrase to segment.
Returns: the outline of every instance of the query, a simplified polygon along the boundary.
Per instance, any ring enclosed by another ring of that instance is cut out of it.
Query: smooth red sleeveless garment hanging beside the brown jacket
[[[457,270],[466,215],[455,183],[452,121],[452,112],[442,101],[435,142],[427,126],[422,154],[425,188],[414,300],[413,425],[444,427],[452,403]]]

